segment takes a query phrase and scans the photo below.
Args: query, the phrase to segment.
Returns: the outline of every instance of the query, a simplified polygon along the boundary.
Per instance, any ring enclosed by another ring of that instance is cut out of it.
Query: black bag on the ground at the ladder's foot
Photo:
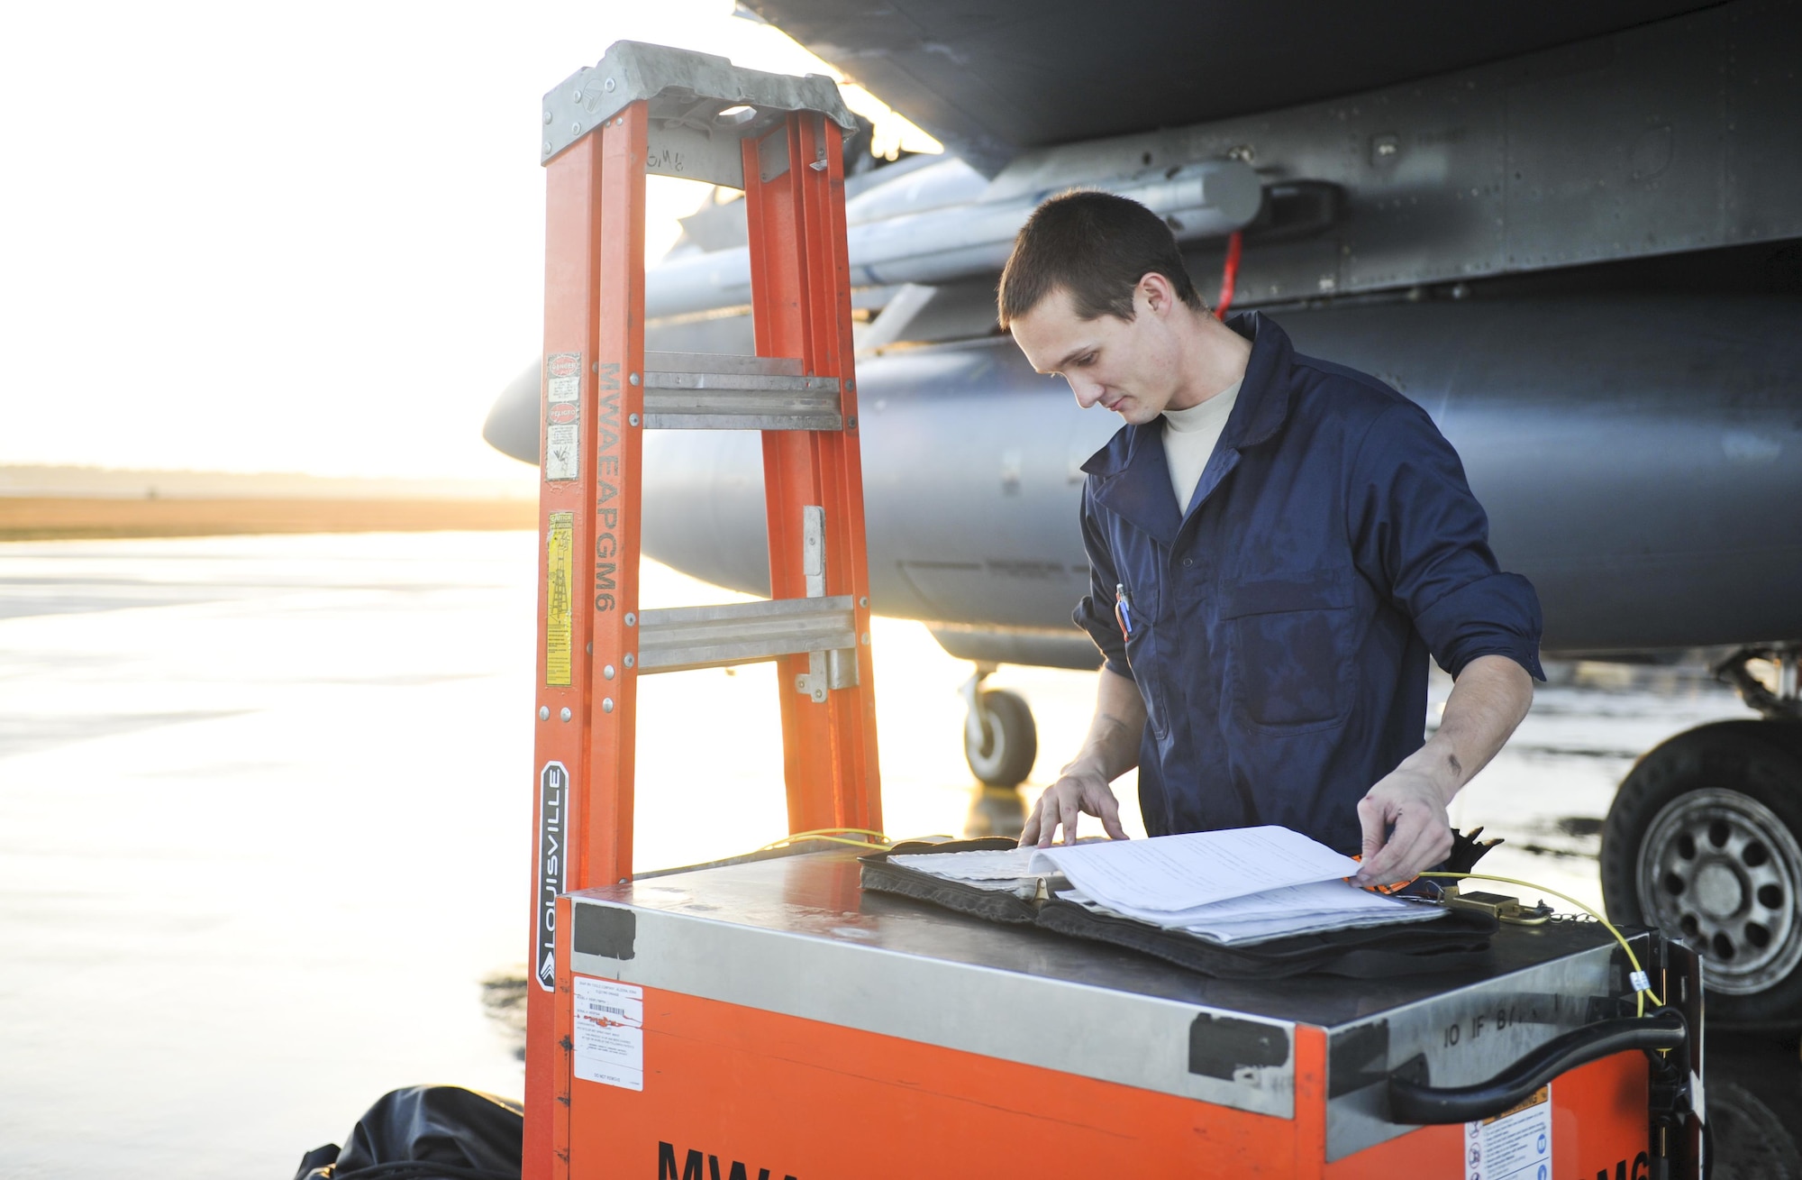
[[[294,1180],[519,1180],[524,1110],[461,1086],[384,1093],[350,1131],[301,1158]]]

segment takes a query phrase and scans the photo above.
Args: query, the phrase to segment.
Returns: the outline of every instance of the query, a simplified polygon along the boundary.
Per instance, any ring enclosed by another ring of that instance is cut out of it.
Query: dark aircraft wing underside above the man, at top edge
[[[1278,110],[1697,0],[741,0],[993,175],[1024,148]]]

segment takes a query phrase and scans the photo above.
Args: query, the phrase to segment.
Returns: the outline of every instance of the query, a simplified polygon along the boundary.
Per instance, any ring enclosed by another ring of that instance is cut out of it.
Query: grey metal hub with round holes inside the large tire
[[[1750,994],[1802,962],[1802,848],[1768,807],[1737,790],[1672,799],[1640,846],[1640,909],[1708,958],[1708,987]]]

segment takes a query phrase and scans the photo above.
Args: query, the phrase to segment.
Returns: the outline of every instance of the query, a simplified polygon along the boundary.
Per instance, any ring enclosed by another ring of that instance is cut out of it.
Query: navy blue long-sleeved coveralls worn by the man
[[[1144,696],[1151,835],[1274,823],[1357,852],[1357,801],[1425,742],[1427,655],[1452,677],[1505,655],[1543,680],[1539,597],[1497,568],[1424,410],[1297,355],[1256,312],[1229,327],[1251,363],[1188,512],[1162,417],[1083,464],[1074,617]]]

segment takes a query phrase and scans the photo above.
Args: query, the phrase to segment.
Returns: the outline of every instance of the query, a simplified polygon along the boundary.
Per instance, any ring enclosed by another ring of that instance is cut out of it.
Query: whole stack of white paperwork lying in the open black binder
[[[1278,826],[897,855],[892,862],[1022,897],[1051,879],[1056,897],[1067,902],[1220,944],[1422,922],[1443,913],[1359,890],[1344,880],[1357,871],[1357,861]]]

